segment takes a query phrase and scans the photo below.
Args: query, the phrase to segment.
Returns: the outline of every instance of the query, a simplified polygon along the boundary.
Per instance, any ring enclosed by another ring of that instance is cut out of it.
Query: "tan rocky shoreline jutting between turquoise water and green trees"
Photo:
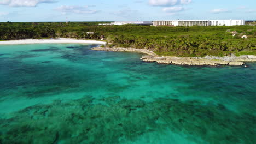
[[[256,62],[256,56],[243,55],[236,57],[235,55],[226,57],[159,57],[153,51],[146,49],[135,49],[135,48],[106,48],[106,47],[95,47],[92,50],[96,51],[124,51],[124,52],[139,52],[145,53],[147,56],[143,56],[141,59],[144,62],[157,62],[163,64],[177,64],[177,65],[245,65],[243,62]]]

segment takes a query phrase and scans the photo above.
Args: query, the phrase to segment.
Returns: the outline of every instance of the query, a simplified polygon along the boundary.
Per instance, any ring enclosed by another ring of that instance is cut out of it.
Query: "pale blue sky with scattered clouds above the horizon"
[[[256,20],[255,0],[0,0],[0,21]]]

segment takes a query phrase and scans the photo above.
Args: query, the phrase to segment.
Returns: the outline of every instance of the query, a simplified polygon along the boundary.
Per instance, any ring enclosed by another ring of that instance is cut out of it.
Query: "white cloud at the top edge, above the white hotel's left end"
[[[192,0],[149,0],[149,5],[168,7],[178,4],[189,4]]]

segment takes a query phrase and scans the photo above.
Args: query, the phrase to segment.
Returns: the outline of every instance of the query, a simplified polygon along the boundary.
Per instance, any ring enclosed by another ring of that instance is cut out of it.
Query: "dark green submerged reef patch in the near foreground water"
[[[1,143],[122,143],[166,130],[205,143],[256,143],[255,116],[199,101],[85,96],[27,107],[9,117],[0,119]]]

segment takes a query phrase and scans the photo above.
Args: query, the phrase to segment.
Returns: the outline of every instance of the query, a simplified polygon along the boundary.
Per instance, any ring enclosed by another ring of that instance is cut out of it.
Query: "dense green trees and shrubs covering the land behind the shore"
[[[256,50],[256,26],[99,26],[98,23],[103,22],[4,22],[0,23],[0,39],[62,37],[98,40],[103,34],[109,47],[136,47],[154,50],[159,55],[180,57],[226,56],[230,53],[255,55]],[[226,32],[227,29],[230,32]],[[236,36],[232,36],[232,31],[237,32]],[[241,39],[244,34],[248,39]]]

